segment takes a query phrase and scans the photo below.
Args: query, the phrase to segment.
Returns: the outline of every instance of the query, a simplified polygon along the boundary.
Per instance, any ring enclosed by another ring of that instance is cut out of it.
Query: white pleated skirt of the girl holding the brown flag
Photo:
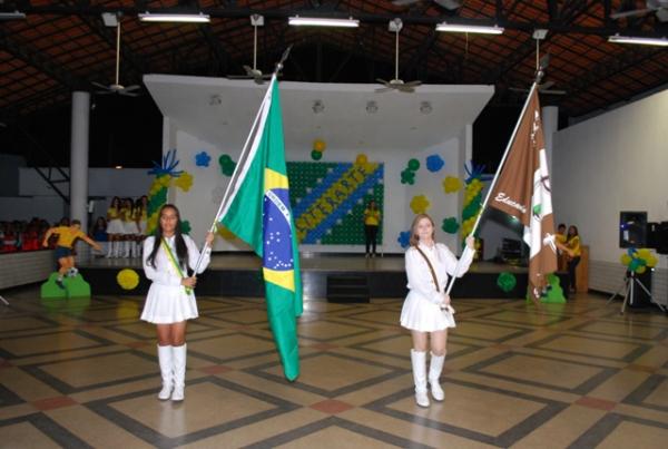
[[[419,332],[443,331],[455,328],[452,313],[441,310],[439,304],[422,297],[418,292],[409,292],[401,310],[402,328]]]

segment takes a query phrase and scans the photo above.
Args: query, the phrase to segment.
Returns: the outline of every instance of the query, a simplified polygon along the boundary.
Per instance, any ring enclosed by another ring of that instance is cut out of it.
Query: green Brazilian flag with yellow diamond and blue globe
[[[289,206],[281,97],[276,78],[265,95],[252,145],[230,183],[220,223],[263,260],[267,313],[285,377],[299,375],[296,316],[302,314],[302,276]]]

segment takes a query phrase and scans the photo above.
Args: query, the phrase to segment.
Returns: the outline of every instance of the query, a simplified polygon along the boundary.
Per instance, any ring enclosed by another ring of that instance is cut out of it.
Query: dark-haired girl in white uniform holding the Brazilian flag
[[[186,321],[198,316],[193,290],[197,283],[194,270],[199,257],[197,245],[188,235],[180,233],[180,216],[176,206],[166,204],[160,208],[159,224],[155,235],[144,242],[144,272],[153,281],[141,320],[156,324],[158,334],[158,360],[163,377],[160,400],[171,397],[184,400],[186,377]],[[207,233],[202,273],[208,265],[214,234]]]

